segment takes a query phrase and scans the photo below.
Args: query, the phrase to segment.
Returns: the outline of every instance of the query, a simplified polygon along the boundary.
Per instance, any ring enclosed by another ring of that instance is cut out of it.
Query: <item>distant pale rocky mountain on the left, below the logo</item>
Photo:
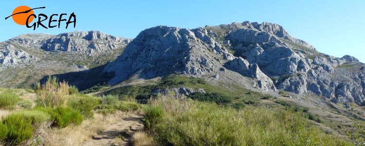
[[[14,37],[0,43],[0,87],[27,87],[43,76],[104,65],[130,41],[98,31]]]

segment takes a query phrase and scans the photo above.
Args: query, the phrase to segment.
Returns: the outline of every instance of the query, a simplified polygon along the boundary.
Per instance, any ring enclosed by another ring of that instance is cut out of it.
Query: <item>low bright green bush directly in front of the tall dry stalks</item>
[[[80,112],[71,108],[38,108],[37,110],[49,113],[51,115],[51,120],[53,121],[52,126],[55,127],[65,128],[70,124],[80,125],[83,121]]]

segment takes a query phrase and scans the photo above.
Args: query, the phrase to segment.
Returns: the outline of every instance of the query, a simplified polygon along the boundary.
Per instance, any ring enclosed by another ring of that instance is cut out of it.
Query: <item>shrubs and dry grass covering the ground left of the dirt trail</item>
[[[37,138],[47,128],[81,125],[84,120],[92,119],[94,112],[107,115],[116,110],[140,108],[136,103],[119,101],[118,96],[98,98],[79,94],[77,88],[55,77],[48,78],[43,85],[35,84],[31,92],[36,94],[33,102],[20,98],[13,90],[0,92],[0,108],[14,110],[0,121],[0,145],[40,145]]]

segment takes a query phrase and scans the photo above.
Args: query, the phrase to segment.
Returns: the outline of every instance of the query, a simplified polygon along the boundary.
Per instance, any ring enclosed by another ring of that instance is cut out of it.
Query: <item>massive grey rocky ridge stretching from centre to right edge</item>
[[[141,32],[126,50],[105,68],[116,73],[111,84],[136,73],[150,78],[183,73],[223,80],[233,71],[256,79],[253,86],[264,91],[315,93],[336,103],[365,100],[364,65],[356,58],[321,54],[268,22],[192,30],[159,26]]]

